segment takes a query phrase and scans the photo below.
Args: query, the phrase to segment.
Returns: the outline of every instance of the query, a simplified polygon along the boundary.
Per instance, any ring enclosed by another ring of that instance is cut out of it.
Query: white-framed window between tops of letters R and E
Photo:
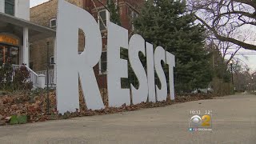
[[[100,10],[98,12],[98,25],[100,30],[106,30],[107,22],[110,21],[109,15],[107,10]]]

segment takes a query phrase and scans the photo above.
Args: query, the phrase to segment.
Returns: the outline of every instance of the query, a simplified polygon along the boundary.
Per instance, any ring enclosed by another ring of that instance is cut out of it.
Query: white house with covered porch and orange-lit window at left
[[[10,59],[14,68],[25,64],[30,70],[30,44],[51,37],[55,30],[30,22],[29,0],[0,1],[0,63]],[[30,81],[38,86],[38,74],[33,70]]]

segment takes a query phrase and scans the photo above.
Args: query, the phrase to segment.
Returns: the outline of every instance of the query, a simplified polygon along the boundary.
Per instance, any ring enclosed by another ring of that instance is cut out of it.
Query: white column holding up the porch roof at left
[[[29,55],[29,29],[27,27],[23,28],[23,49],[22,49],[22,55],[23,59],[22,62],[26,64],[26,66],[30,66],[30,55]]]

